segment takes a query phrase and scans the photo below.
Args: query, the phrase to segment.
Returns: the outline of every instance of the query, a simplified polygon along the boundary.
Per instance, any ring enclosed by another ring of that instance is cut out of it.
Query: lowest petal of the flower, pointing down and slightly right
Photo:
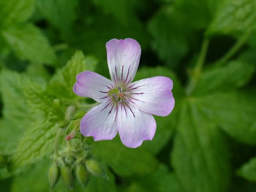
[[[125,146],[136,148],[144,140],[152,140],[156,132],[156,121],[151,114],[123,104],[118,110],[118,131]]]

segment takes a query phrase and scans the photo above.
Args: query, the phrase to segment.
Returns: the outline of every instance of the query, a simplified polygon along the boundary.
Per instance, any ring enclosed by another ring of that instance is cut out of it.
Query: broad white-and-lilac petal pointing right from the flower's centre
[[[156,76],[127,86],[129,102],[140,110],[157,116],[167,116],[174,108],[173,83],[170,78]]]

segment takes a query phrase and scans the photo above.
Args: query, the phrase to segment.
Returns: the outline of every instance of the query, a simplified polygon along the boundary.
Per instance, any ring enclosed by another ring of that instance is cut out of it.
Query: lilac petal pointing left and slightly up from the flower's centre
[[[76,76],[73,91],[83,97],[90,97],[97,102],[104,103],[109,100],[108,92],[113,88],[112,81],[91,72],[85,71]]]

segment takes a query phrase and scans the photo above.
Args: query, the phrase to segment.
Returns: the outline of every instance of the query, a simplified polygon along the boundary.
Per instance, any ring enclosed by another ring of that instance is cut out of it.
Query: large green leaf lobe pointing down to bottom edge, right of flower
[[[193,192],[225,192],[230,163],[221,132],[192,98],[184,102],[178,122],[172,165],[182,187]]]

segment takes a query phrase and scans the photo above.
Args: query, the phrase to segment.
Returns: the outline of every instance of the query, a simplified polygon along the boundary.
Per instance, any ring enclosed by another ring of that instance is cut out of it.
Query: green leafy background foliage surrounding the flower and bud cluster
[[[59,124],[49,119],[78,100],[76,74],[109,78],[112,38],[140,43],[135,80],[172,78],[176,106],[139,148],[90,142],[108,179],[74,191],[255,191],[255,10],[256,0],[0,0],[1,191],[50,189]],[[63,180],[54,191],[68,191]]]

